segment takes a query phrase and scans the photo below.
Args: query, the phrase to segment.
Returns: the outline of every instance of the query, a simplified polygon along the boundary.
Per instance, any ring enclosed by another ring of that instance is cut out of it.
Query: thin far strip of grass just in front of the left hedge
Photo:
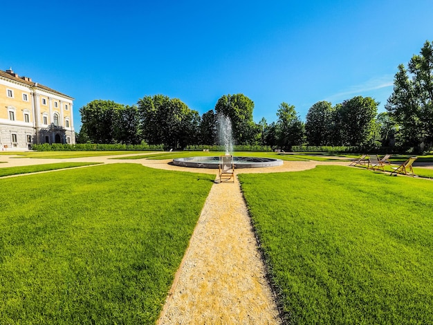
[[[15,154],[17,158],[82,158],[82,157],[97,157],[97,156],[116,156],[116,155],[131,155],[142,154],[149,151],[24,151],[10,152],[8,155]],[[158,151],[156,151],[158,152]]]

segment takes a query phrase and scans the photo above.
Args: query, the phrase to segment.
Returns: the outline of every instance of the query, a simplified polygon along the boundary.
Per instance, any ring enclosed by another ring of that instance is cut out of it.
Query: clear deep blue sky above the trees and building
[[[222,95],[255,102],[254,120],[293,104],[302,120],[321,100],[380,102],[398,64],[433,41],[433,2],[9,1],[0,69],[75,98],[135,104],[177,97],[200,114]]]

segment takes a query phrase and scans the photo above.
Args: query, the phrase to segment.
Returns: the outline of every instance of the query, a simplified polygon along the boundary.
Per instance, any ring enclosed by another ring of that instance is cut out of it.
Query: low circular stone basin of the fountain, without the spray
[[[176,166],[194,167],[194,168],[218,168],[219,156],[214,157],[188,157],[175,158],[173,163]],[[274,158],[258,157],[233,157],[234,168],[259,168],[275,167],[283,165],[283,160]]]

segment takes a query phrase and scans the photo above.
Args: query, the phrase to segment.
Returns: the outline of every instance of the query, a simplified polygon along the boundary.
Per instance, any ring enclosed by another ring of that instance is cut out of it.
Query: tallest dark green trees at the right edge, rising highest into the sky
[[[412,74],[409,79],[408,73]],[[433,140],[433,44],[426,41],[420,55],[398,66],[394,91],[385,109],[400,126],[398,136],[404,145],[416,146]]]

